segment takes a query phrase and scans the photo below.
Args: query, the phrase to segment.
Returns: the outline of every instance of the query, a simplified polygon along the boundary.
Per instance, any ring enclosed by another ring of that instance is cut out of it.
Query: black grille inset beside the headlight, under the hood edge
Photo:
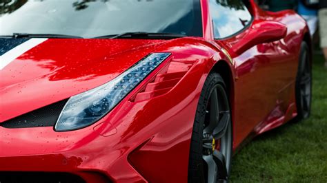
[[[52,105],[30,111],[16,118],[1,122],[0,126],[8,129],[30,127],[53,127],[68,100],[61,100]]]

